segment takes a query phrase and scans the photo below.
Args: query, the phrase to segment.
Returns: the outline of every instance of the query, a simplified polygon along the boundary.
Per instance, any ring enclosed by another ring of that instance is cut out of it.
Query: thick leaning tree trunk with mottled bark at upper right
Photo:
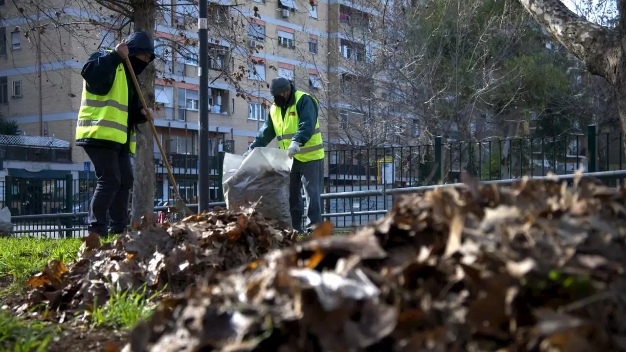
[[[559,0],[519,1],[553,38],[584,61],[593,75],[615,87],[626,148],[626,0],[617,0],[615,28],[587,21]]]

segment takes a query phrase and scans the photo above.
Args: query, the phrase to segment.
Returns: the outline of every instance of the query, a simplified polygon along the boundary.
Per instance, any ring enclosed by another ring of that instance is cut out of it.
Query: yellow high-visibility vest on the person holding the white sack
[[[302,96],[308,95],[304,91],[295,91],[295,103],[287,108],[285,111],[285,117],[280,116],[280,108],[275,104],[272,104],[270,108],[270,118],[272,118],[272,125],[274,125],[274,132],[276,133],[276,139],[278,140],[279,148],[287,149],[291,144],[291,138],[294,138],[296,132],[298,132],[299,116],[295,106]],[[317,106],[319,102],[316,98],[313,98]],[[320,160],[324,158],[324,142],[322,141],[322,132],[319,130],[319,118],[315,124],[315,130],[311,136],[309,142],[300,146],[300,152],[297,153],[294,158],[301,162],[310,162],[313,160]]]

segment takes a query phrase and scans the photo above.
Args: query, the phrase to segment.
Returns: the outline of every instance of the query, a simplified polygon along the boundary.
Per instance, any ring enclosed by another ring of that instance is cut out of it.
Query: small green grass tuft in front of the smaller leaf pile
[[[135,291],[120,291],[118,287],[105,305],[91,313],[86,312],[91,316],[91,328],[106,327],[117,330],[135,328],[137,323],[150,318],[158,294],[160,292],[147,296],[145,284]]]

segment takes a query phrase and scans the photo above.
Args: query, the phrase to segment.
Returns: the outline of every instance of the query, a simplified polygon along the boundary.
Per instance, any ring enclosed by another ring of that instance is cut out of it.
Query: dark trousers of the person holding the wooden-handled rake
[[[96,170],[96,190],[89,207],[89,232],[120,234],[128,225],[128,197],[133,166],[125,148],[83,147]],[[108,217],[107,217],[108,214]]]

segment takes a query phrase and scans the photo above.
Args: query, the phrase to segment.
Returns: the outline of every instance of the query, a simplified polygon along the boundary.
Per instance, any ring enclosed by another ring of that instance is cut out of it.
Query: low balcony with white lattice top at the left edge
[[[69,142],[50,137],[0,135],[0,160],[71,163]]]

